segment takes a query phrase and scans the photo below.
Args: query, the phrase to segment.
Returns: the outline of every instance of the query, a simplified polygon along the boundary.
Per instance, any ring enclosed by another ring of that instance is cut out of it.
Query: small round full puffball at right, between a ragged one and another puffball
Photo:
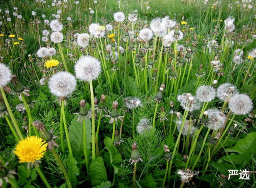
[[[216,92],[213,87],[209,85],[202,85],[196,90],[196,98],[201,102],[212,101],[216,96]]]

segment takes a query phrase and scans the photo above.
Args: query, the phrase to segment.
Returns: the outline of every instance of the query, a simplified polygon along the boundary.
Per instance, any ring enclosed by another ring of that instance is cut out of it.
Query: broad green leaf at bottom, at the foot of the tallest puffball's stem
[[[92,186],[98,186],[102,182],[108,181],[106,168],[104,166],[102,157],[97,157],[92,160],[92,163],[90,164],[90,176]]]

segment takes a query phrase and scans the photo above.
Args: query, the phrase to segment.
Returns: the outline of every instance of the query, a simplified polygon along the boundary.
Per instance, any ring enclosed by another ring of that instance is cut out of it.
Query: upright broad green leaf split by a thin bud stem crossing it
[[[79,115],[76,115],[74,119],[71,121],[71,125],[69,127],[69,136],[72,151],[75,157],[82,158],[84,155],[84,144],[83,144],[83,125],[76,121]],[[91,121],[89,118],[85,121],[86,126],[86,148],[87,151],[90,151],[91,143],[92,143],[92,127]],[[89,156],[89,153],[87,155]],[[78,160],[79,161],[79,160]]]

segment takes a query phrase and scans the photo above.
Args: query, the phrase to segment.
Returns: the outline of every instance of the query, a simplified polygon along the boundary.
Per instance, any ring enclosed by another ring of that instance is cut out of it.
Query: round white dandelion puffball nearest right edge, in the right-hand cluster
[[[236,115],[246,115],[252,110],[252,99],[248,95],[236,94],[230,98],[228,107]]]

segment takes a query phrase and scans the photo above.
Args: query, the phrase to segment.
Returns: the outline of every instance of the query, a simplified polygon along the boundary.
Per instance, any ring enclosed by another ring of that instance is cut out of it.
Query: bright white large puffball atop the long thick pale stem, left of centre
[[[98,78],[101,63],[98,59],[86,55],[81,56],[74,66],[76,77],[82,81],[92,81]]]

